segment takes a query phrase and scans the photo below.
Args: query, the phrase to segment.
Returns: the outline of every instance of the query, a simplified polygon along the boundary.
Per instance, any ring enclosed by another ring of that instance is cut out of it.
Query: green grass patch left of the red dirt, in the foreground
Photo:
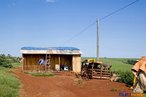
[[[0,97],[19,97],[20,81],[10,71],[0,67]]]

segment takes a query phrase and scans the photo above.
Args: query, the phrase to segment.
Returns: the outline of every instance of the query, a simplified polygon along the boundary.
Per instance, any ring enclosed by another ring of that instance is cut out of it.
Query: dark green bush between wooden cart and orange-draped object
[[[133,77],[134,75],[132,74],[131,71],[119,71],[117,74],[120,76],[119,82],[125,83],[128,86],[133,85]]]

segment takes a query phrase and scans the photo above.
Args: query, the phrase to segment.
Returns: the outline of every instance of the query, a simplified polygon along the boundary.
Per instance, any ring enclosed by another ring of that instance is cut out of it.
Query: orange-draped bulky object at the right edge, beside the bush
[[[146,57],[143,56],[133,66],[132,72],[134,74],[134,93],[143,93],[146,91]]]

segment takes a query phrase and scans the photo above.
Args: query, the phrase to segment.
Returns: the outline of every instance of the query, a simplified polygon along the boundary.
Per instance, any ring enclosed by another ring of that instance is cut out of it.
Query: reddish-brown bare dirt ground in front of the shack
[[[119,97],[131,93],[123,83],[103,79],[80,80],[72,73],[57,73],[53,77],[34,77],[14,70],[20,79],[21,97]]]

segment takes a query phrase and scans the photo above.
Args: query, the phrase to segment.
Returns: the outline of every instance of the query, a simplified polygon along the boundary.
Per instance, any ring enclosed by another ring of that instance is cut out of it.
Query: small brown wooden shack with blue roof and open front
[[[81,71],[81,51],[75,47],[22,47],[23,71]]]

